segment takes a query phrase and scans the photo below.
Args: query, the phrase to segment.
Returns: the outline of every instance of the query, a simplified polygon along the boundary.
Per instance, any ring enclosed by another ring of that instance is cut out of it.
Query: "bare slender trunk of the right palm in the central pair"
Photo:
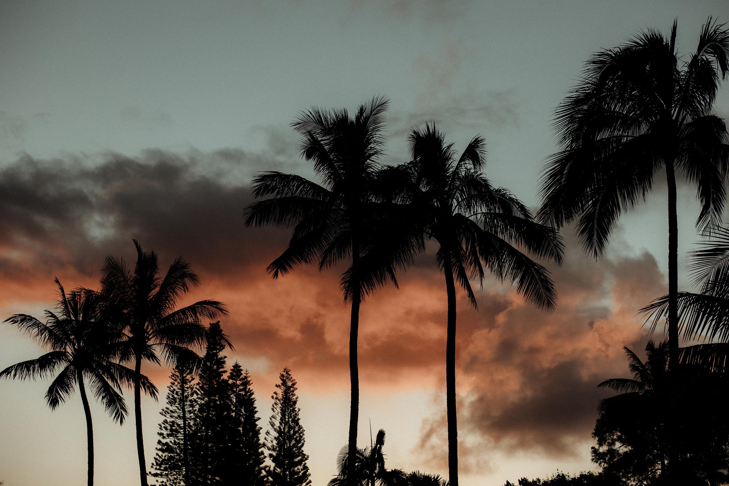
[[[448,294],[448,330],[445,341],[445,407],[448,415],[448,482],[458,486],[458,426],[456,424],[456,284],[451,255],[445,257],[445,291]]]

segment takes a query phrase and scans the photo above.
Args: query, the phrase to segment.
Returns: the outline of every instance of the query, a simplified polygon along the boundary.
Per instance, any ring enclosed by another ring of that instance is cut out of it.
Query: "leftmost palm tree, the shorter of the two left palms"
[[[105,299],[87,289],[66,294],[58,278],[55,283],[58,285],[56,310],[45,311],[45,323],[26,314],[15,314],[5,320],[50,351],[7,367],[0,372],[0,377],[37,380],[58,372],[45,396],[51,409],[63,404],[78,386],[86,416],[88,485],[92,486],[93,423],[86,385],[114,421],[122,424],[127,407],[120,387],[132,383],[133,372],[112,361],[119,355],[122,335],[108,318]],[[139,383],[152,396],[157,396],[157,388],[147,377],[140,376]]]

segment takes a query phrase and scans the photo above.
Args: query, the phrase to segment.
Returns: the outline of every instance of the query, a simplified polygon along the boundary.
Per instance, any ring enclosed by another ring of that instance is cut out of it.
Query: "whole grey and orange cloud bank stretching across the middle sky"
[[[243,227],[253,172],[305,170],[288,152],[271,153],[26,155],[5,165],[0,307],[12,313],[22,312],[23,302],[49,305],[55,275],[67,286],[94,285],[104,256],[132,259],[136,238],[160,254],[163,267],[179,255],[192,263],[203,285],[190,298],[227,302],[224,326],[235,355],[260,377],[270,380],[287,365],[310,391],[346,390],[348,309],[337,271],[303,268],[273,281],[265,267],[285,248],[288,233]],[[567,243],[566,263],[551,269],[560,294],[553,313],[491,280],[478,295],[478,310],[459,297],[466,468],[488,467],[491,450],[574,455],[589,440],[604,396],[597,383],[625,375],[623,345],[640,349],[646,340],[634,313],[665,291],[655,259],[644,253],[594,262],[576,241]],[[445,285],[431,254],[418,259],[401,289],[367,300],[360,332],[363,393],[410,388],[443,396]],[[444,444],[444,417],[436,415],[423,425],[419,451],[442,466]]]

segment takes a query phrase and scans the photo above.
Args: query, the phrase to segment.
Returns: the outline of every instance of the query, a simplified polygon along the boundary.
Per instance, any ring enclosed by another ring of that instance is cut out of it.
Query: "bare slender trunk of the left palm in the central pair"
[[[356,484],[357,457],[357,419],[359,418],[359,368],[357,367],[357,334],[359,334],[359,242],[352,238],[352,312],[349,324],[349,380],[351,383],[351,402],[349,408],[349,442],[347,477],[348,484]]]

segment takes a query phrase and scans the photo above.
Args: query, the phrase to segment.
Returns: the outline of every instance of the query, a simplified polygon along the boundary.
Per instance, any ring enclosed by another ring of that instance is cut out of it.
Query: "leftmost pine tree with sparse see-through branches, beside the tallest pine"
[[[160,414],[157,454],[152,464],[152,477],[165,486],[190,485],[190,425],[195,407],[194,377],[189,367],[176,364],[167,388],[167,407]]]

